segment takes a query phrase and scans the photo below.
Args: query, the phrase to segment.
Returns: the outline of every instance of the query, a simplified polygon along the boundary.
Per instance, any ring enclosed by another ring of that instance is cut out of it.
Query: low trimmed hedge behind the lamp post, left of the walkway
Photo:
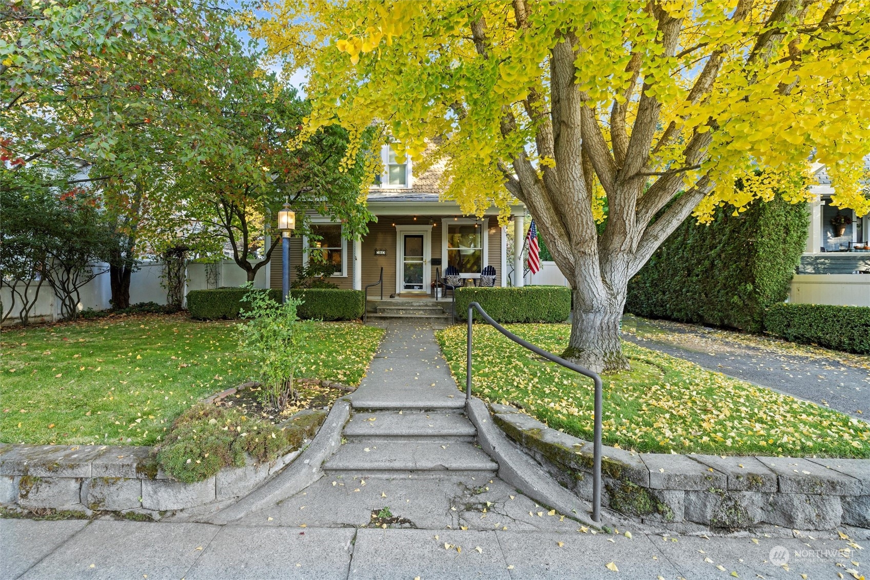
[[[281,300],[281,290],[273,288],[265,291],[269,292],[272,300]],[[247,290],[244,288],[191,290],[187,293],[187,310],[197,320],[238,318],[245,292]],[[363,317],[365,295],[362,290],[300,288],[290,290],[290,295],[305,301],[297,309],[300,318],[357,320]]]

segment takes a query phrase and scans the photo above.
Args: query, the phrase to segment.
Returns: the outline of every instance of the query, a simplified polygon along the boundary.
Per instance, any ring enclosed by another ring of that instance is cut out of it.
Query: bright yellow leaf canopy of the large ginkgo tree
[[[870,2],[845,3],[830,23],[822,22],[830,0],[768,23],[776,4],[751,3],[742,18],[734,17],[735,0],[657,4],[679,19],[673,56],[661,42],[661,13],[638,0],[527,3],[523,26],[509,0],[276,0],[264,3],[271,17],[250,15],[247,22],[285,73],[309,72],[311,117],[290,146],[331,123],[357,141],[377,124],[382,143],[397,140],[415,161],[431,144],[446,159],[446,196],[464,211],[480,213],[494,203],[504,212],[511,203],[505,172],[534,147],[541,119],[530,111],[550,110],[551,50],[573,30],[576,83],[600,132],[610,141],[609,112],[620,103],[631,138],[639,91],[654,97],[661,117],[651,146],[639,153],[648,156],[647,185],[677,168],[685,190],[709,180],[712,189],[694,212],[700,221],[717,206],[739,212],[777,192],[792,203],[806,200],[813,151],[830,168],[833,204],[864,215],[870,200],[859,179],[861,157],[870,152],[870,45],[860,40],[870,37]],[[475,43],[478,18],[485,38]],[[778,34],[759,43],[766,31]],[[638,78],[632,57],[639,58]],[[693,92],[713,58],[721,59],[717,74]],[[508,112],[516,128],[505,135]],[[666,138],[672,126],[677,139]],[[686,142],[697,135],[710,142],[686,159]],[[354,153],[351,147],[347,159]],[[541,167],[555,166],[539,155]],[[737,179],[744,187],[734,188]],[[595,219],[603,220],[599,183],[586,196]]]

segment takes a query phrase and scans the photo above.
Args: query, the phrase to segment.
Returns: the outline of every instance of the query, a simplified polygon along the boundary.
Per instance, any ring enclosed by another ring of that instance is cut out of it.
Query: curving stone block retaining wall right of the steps
[[[592,500],[592,443],[518,409],[490,405],[495,423],[548,473]],[[728,530],[760,523],[799,530],[870,528],[870,460],[719,457],[604,448],[602,504],[655,523]]]

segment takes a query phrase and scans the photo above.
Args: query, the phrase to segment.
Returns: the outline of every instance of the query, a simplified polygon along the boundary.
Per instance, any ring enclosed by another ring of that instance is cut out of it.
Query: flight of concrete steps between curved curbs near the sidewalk
[[[499,464],[481,450],[462,410],[355,409],[345,443],[324,464],[333,477],[495,477]]]

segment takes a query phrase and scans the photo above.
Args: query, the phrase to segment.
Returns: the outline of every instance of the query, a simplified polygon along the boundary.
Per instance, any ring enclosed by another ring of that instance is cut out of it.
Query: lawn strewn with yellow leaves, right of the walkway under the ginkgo
[[[565,349],[567,324],[507,327],[545,350]],[[465,384],[465,326],[437,333]],[[640,452],[870,457],[870,425],[834,410],[623,343],[632,370],[604,379],[604,443]],[[489,326],[474,330],[472,393],[519,405],[553,429],[592,438],[592,381],[546,362]]]

